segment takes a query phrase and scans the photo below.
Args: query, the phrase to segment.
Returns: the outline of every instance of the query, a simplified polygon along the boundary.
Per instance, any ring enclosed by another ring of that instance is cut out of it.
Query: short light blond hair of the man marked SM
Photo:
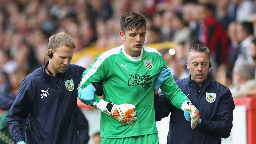
[[[69,48],[76,48],[74,40],[65,31],[56,33],[49,38],[48,49],[52,49],[53,52],[60,46],[67,46]]]

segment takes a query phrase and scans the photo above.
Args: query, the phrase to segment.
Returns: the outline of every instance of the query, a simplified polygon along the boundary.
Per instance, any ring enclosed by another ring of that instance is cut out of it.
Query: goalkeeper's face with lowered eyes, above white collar
[[[121,31],[119,34],[124,40],[125,52],[132,57],[140,56],[146,36],[145,26],[139,27],[137,30],[135,28],[126,30],[125,33]]]

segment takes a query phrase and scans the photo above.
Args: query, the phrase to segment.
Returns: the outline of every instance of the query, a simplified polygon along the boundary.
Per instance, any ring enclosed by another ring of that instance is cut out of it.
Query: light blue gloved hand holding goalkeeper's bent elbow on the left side
[[[95,91],[94,86],[90,84],[78,92],[78,98],[84,104],[92,105]]]

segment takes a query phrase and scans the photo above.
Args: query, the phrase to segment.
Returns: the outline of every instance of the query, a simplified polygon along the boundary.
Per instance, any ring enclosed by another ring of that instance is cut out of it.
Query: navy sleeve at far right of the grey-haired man
[[[217,110],[216,121],[208,121],[202,119],[202,122],[197,126],[198,128],[204,129],[206,132],[223,138],[228,138],[233,126],[233,111],[235,109],[235,104],[233,97],[228,88],[225,89],[226,92],[222,96],[219,102]]]

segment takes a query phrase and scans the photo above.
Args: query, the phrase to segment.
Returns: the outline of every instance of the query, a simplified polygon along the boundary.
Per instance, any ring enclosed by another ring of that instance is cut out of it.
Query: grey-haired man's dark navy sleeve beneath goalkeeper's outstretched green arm
[[[163,92],[159,95],[154,95],[154,107],[156,121],[160,121],[162,118],[167,117],[172,109],[176,108],[165,98]]]

